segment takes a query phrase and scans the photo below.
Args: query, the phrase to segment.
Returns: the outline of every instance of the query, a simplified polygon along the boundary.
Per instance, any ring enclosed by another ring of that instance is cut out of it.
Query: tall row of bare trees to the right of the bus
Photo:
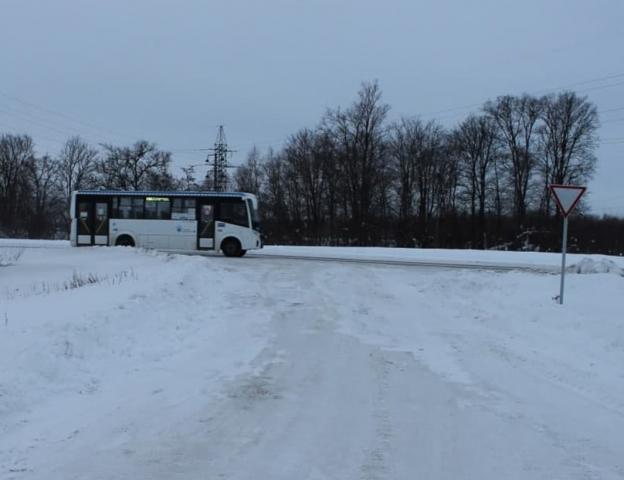
[[[280,151],[252,150],[235,181],[260,196],[269,236],[491,247],[555,213],[549,184],[586,183],[596,167],[598,114],[574,92],[499,97],[451,130],[388,113],[365,83]]]

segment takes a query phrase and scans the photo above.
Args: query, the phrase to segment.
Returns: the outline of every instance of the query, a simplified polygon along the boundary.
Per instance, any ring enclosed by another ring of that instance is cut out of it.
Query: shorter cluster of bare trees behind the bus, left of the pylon
[[[72,191],[176,188],[170,163],[170,153],[146,141],[100,153],[73,137],[53,158],[37,156],[28,135],[0,135],[0,235],[64,237]]]

